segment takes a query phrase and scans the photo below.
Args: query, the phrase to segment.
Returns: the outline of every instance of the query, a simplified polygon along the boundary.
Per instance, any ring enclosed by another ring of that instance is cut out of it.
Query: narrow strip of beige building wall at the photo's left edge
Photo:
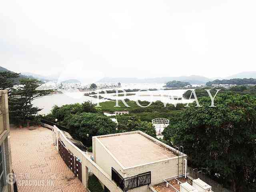
[[[10,124],[8,111],[8,95],[6,90],[0,90],[0,145],[3,146],[3,158],[5,162],[5,175],[12,172],[12,156],[10,148]],[[13,184],[6,183],[4,192],[13,192]]]

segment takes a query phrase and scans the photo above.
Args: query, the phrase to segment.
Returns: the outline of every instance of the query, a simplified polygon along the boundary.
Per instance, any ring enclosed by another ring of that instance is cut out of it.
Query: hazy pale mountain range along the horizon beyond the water
[[[10,71],[6,68],[0,67],[0,71]],[[58,80],[58,74],[52,75],[52,76],[45,76],[45,75],[39,75],[39,74],[33,74],[30,72],[24,72],[20,74],[21,78],[35,78],[40,81],[48,82],[48,81],[57,81]],[[169,81],[182,81],[182,82],[189,82],[190,84],[205,84],[206,82],[210,82],[216,79],[223,80],[223,79],[234,79],[234,78],[256,78],[256,71],[252,72],[241,72],[238,74],[234,74],[225,78],[207,78],[204,76],[197,76],[197,75],[191,75],[191,76],[179,76],[179,77],[158,77],[158,78],[112,78],[112,77],[104,77],[101,80],[98,81],[98,83],[167,83]],[[68,80],[68,82],[76,82],[79,81],[76,80]]]

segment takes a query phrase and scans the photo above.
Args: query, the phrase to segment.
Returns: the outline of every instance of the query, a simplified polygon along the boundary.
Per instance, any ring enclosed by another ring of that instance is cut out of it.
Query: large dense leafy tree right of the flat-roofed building
[[[208,168],[235,192],[250,191],[256,182],[256,99],[227,93],[214,101],[216,107],[209,107],[210,98],[202,97],[202,107],[184,110],[164,139],[184,146],[192,166]]]

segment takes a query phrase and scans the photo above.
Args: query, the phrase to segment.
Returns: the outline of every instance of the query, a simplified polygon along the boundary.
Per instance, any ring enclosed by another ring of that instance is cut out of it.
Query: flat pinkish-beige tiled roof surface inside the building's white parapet
[[[125,168],[175,157],[170,149],[140,133],[110,135],[98,139]]]

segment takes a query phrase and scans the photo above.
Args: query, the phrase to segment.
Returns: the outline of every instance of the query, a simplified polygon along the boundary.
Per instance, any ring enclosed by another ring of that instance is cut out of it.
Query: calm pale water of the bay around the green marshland
[[[150,89],[150,88],[163,88],[164,84],[122,84],[122,89]],[[113,88],[112,88],[113,89]],[[112,90],[110,89],[110,90]],[[91,92],[91,91],[90,91]],[[143,92],[129,92],[138,94],[138,96],[118,96],[118,99],[128,98],[130,100],[146,100],[146,101],[156,101],[160,100],[165,103],[188,103],[194,100],[171,100],[169,96],[182,97],[186,90],[157,90],[157,91],[143,91]],[[84,101],[91,101],[92,103],[97,103],[98,99],[89,96],[84,96],[86,92],[66,92],[62,94],[51,94],[38,98],[33,101],[34,106],[42,108],[39,112],[40,114],[48,114],[54,105],[62,106],[64,104],[74,104],[82,103]],[[161,96],[160,96],[161,95]],[[116,99],[115,94],[101,94],[105,98]],[[105,102],[107,100],[100,99],[99,102]]]

